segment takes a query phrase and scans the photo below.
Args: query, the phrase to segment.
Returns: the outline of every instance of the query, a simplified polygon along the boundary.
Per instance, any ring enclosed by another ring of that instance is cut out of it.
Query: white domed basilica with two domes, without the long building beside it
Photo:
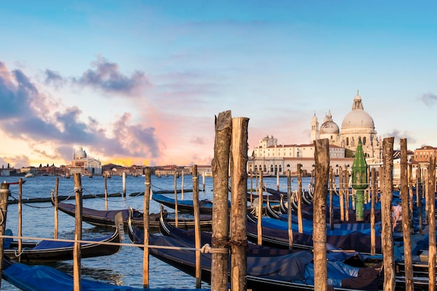
[[[316,114],[314,114],[311,121],[311,142],[322,138],[327,138],[329,144],[350,150],[350,154],[355,154],[358,139],[361,138],[366,161],[378,163],[381,159],[382,140],[376,135],[372,117],[364,111],[359,91],[353,99],[352,111],[343,119],[341,129],[332,120],[330,111],[325,115],[320,128]]]

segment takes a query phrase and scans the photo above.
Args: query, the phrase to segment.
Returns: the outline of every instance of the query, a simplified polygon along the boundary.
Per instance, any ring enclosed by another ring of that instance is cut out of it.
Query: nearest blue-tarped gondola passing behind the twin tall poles
[[[165,225],[164,227],[171,227]],[[128,227],[129,237],[133,244],[143,244],[144,232],[135,225]],[[174,231],[174,232],[173,232]],[[179,234],[177,234],[179,232]],[[191,232],[191,234],[190,234]],[[150,234],[149,244],[154,246],[175,246],[175,248],[194,248],[193,231],[188,230],[183,234],[181,230],[170,230],[172,236],[157,236]],[[189,238],[191,235],[191,238]],[[211,237],[205,232],[202,233],[202,244],[210,244]],[[140,247],[141,248],[141,247]],[[170,248],[149,248],[149,253],[154,257],[167,262],[178,269],[194,276],[195,256],[193,251],[187,249]],[[335,254],[335,255],[334,255]],[[378,290],[378,278],[380,269],[360,269],[350,267],[343,262],[341,255],[353,256],[350,253],[332,253],[329,261],[329,283],[335,285],[335,290]],[[336,260],[334,259],[336,258]],[[256,246],[249,244],[247,253],[247,285],[254,291],[260,290],[313,290],[313,255],[310,251],[289,251]],[[210,253],[202,253],[202,281],[210,282],[211,262]],[[343,273],[336,268],[344,267],[348,271]],[[334,270],[336,269],[336,270]],[[350,276],[350,272],[360,276]],[[336,280],[333,280],[333,272],[336,273]],[[347,277],[347,278],[346,278]],[[312,284],[311,284],[312,282]],[[339,287],[341,285],[341,287]]]

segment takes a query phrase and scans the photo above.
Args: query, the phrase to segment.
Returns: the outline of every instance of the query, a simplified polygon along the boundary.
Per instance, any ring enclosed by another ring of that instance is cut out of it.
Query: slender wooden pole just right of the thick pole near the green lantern
[[[413,280],[413,257],[411,254],[410,237],[410,206],[408,203],[408,154],[407,140],[401,138],[401,207],[402,207],[402,232],[403,232],[403,255],[405,262],[405,285],[406,291],[414,290]],[[435,238],[435,236],[434,236]],[[434,244],[435,246],[436,244]],[[435,278],[435,276],[434,276]]]

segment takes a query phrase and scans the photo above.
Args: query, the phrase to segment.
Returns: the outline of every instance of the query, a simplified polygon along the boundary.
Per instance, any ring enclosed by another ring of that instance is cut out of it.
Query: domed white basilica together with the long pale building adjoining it
[[[352,166],[353,156],[357,150],[358,140],[362,140],[362,148],[367,163],[380,163],[382,140],[377,137],[373,119],[364,111],[360,94],[353,99],[352,111],[343,119],[341,128],[332,119],[329,111],[323,124],[319,126],[316,114],[311,120],[311,143],[309,144],[278,144],[273,136],[266,135],[253,149],[247,170],[249,173],[286,174],[287,170],[295,173],[297,164],[302,170],[311,173],[314,167],[314,140],[327,138],[329,140],[329,159],[338,174],[341,168]]]

